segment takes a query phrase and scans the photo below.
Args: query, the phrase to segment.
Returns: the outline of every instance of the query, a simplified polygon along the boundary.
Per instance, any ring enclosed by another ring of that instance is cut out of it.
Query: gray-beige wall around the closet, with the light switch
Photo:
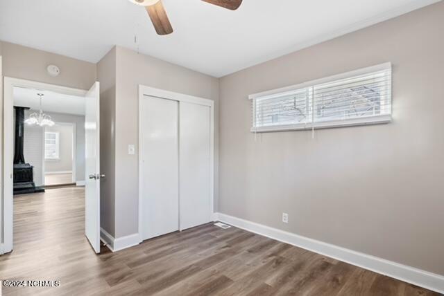
[[[115,237],[123,237],[138,232],[138,153],[128,155],[128,145],[137,147],[139,138],[139,84],[214,100],[218,122],[219,80],[126,48],[117,47],[116,51],[115,180],[118,182],[115,184]],[[217,124],[215,128],[215,146],[218,147]],[[215,154],[217,164],[218,151]],[[217,172],[217,165],[215,169]],[[217,184],[215,192],[218,192]]]

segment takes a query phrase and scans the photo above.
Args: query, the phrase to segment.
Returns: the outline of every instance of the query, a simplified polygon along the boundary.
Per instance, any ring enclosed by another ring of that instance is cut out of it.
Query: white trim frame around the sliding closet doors
[[[155,89],[151,86],[144,86],[139,84],[139,119],[138,119],[138,129],[139,129],[139,143],[137,147],[137,156],[139,158],[139,241],[143,241],[142,237],[142,131],[140,129],[141,120],[142,120],[142,100],[144,100],[145,96],[151,96],[160,99],[167,99],[179,102],[189,102],[192,104],[200,104],[203,106],[210,107],[210,217],[214,217],[214,101],[195,97],[193,95],[185,95],[183,93],[175,93],[173,91],[164,91],[163,89]],[[180,167],[179,167],[180,170]],[[180,180],[179,180],[180,182]],[[180,194],[180,193],[179,193]],[[180,197],[179,197],[180,198]],[[179,199],[179,207],[180,207],[180,199]],[[180,230],[180,216],[179,216],[179,225],[178,228]]]

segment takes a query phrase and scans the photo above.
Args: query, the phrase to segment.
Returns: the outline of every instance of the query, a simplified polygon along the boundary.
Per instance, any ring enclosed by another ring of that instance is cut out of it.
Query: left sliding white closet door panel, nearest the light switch
[[[144,96],[140,104],[142,239],[179,228],[178,102]]]

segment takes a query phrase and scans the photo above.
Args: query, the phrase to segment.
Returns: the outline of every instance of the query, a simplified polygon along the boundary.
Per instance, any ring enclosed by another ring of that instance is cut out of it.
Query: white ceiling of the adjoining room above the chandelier
[[[28,107],[33,110],[40,109],[40,100],[37,93],[43,93],[42,110],[46,112],[57,112],[66,114],[85,114],[85,98],[75,95],[62,95],[52,91],[39,91],[36,89],[24,89],[15,87],[14,105]]]

